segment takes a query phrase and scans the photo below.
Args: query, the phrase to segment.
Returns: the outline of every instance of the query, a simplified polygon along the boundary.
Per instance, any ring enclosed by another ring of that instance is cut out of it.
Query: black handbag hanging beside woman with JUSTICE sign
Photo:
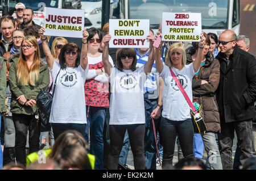
[[[53,99],[53,95],[56,87],[56,81],[59,73],[60,73],[60,70],[56,76],[56,79],[53,85],[52,94],[49,93],[49,91],[51,91],[52,89],[52,85],[51,85],[51,87],[49,88],[49,91],[41,90],[38,93],[38,96],[36,96],[36,104],[38,105],[38,108],[39,108],[40,121],[44,127],[46,127],[49,124],[49,117],[51,115],[51,108],[52,108],[52,99]]]

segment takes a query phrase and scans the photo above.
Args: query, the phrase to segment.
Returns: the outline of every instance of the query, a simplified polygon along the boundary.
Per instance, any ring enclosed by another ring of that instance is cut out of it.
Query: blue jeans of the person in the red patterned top
[[[104,107],[89,107],[89,113],[87,117],[87,128],[85,130],[85,139],[89,137],[90,128],[90,154],[95,155],[95,169],[102,170],[104,162],[104,141],[103,141],[103,129],[105,123]],[[88,106],[86,106],[86,112],[88,112]]]

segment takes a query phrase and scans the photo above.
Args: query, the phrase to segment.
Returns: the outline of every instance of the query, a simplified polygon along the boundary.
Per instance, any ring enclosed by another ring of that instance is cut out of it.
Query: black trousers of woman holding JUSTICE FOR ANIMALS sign
[[[76,124],[76,123],[52,123],[52,131],[53,131],[53,136],[54,139],[56,140],[57,137],[68,130],[76,130],[84,136],[86,124]]]

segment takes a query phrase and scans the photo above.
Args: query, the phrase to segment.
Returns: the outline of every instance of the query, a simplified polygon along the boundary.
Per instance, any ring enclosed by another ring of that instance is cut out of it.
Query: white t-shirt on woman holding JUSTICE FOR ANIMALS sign
[[[55,60],[50,70],[53,83],[57,77],[55,93],[53,95],[50,123],[78,123],[86,124],[86,107],[84,84],[88,73],[79,65],[77,68],[60,70],[60,64]]]

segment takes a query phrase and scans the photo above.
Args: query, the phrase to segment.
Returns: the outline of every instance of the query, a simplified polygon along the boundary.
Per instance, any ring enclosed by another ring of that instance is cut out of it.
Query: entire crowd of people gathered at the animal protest
[[[129,148],[136,170],[157,164],[253,169],[256,61],[247,36],[202,32],[191,46],[172,41],[154,47],[150,30],[149,48],[115,49],[109,48],[109,23],[84,29],[75,44],[44,35],[23,3],[15,8],[17,19],[0,19],[2,169],[127,169]],[[201,110],[207,131],[194,133],[191,108],[172,74]],[[53,96],[48,127],[36,104],[41,90]]]

